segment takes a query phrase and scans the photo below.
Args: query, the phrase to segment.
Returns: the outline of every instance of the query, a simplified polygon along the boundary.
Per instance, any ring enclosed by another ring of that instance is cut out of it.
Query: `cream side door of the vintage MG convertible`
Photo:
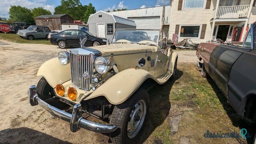
[[[167,56],[167,50],[162,49],[158,51],[158,56],[156,58],[156,66],[154,70],[154,75],[156,77],[162,76],[166,74],[167,72],[167,66],[168,66],[168,59]]]

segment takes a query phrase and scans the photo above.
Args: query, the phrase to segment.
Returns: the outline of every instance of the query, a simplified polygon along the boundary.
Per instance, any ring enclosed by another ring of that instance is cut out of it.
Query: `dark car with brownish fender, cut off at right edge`
[[[201,43],[196,55],[202,76],[210,76],[240,116],[256,121],[256,23],[242,47]]]

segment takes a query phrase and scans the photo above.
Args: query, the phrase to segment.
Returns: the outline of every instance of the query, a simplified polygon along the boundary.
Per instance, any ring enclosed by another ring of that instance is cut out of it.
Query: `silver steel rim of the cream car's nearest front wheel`
[[[146,112],[146,102],[144,100],[138,101],[132,108],[130,121],[127,124],[128,138],[134,138],[138,134],[145,120]]]

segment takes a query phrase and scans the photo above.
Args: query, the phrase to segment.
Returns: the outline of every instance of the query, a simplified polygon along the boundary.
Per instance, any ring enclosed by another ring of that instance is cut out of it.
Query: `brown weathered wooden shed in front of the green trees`
[[[37,26],[49,26],[52,30],[62,30],[63,23],[74,23],[74,19],[68,14],[41,15],[35,20]]]

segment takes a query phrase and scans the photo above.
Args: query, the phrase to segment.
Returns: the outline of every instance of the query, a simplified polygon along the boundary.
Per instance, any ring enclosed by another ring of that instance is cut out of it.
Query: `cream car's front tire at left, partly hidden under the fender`
[[[37,91],[39,98],[41,98],[42,100],[47,100],[47,99],[55,96],[52,86],[50,86],[50,84],[48,84],[48,82],[46,81],[46,79],[44,77],[42,77],[39,80],[39,82],[36,86],[36,91]]]

